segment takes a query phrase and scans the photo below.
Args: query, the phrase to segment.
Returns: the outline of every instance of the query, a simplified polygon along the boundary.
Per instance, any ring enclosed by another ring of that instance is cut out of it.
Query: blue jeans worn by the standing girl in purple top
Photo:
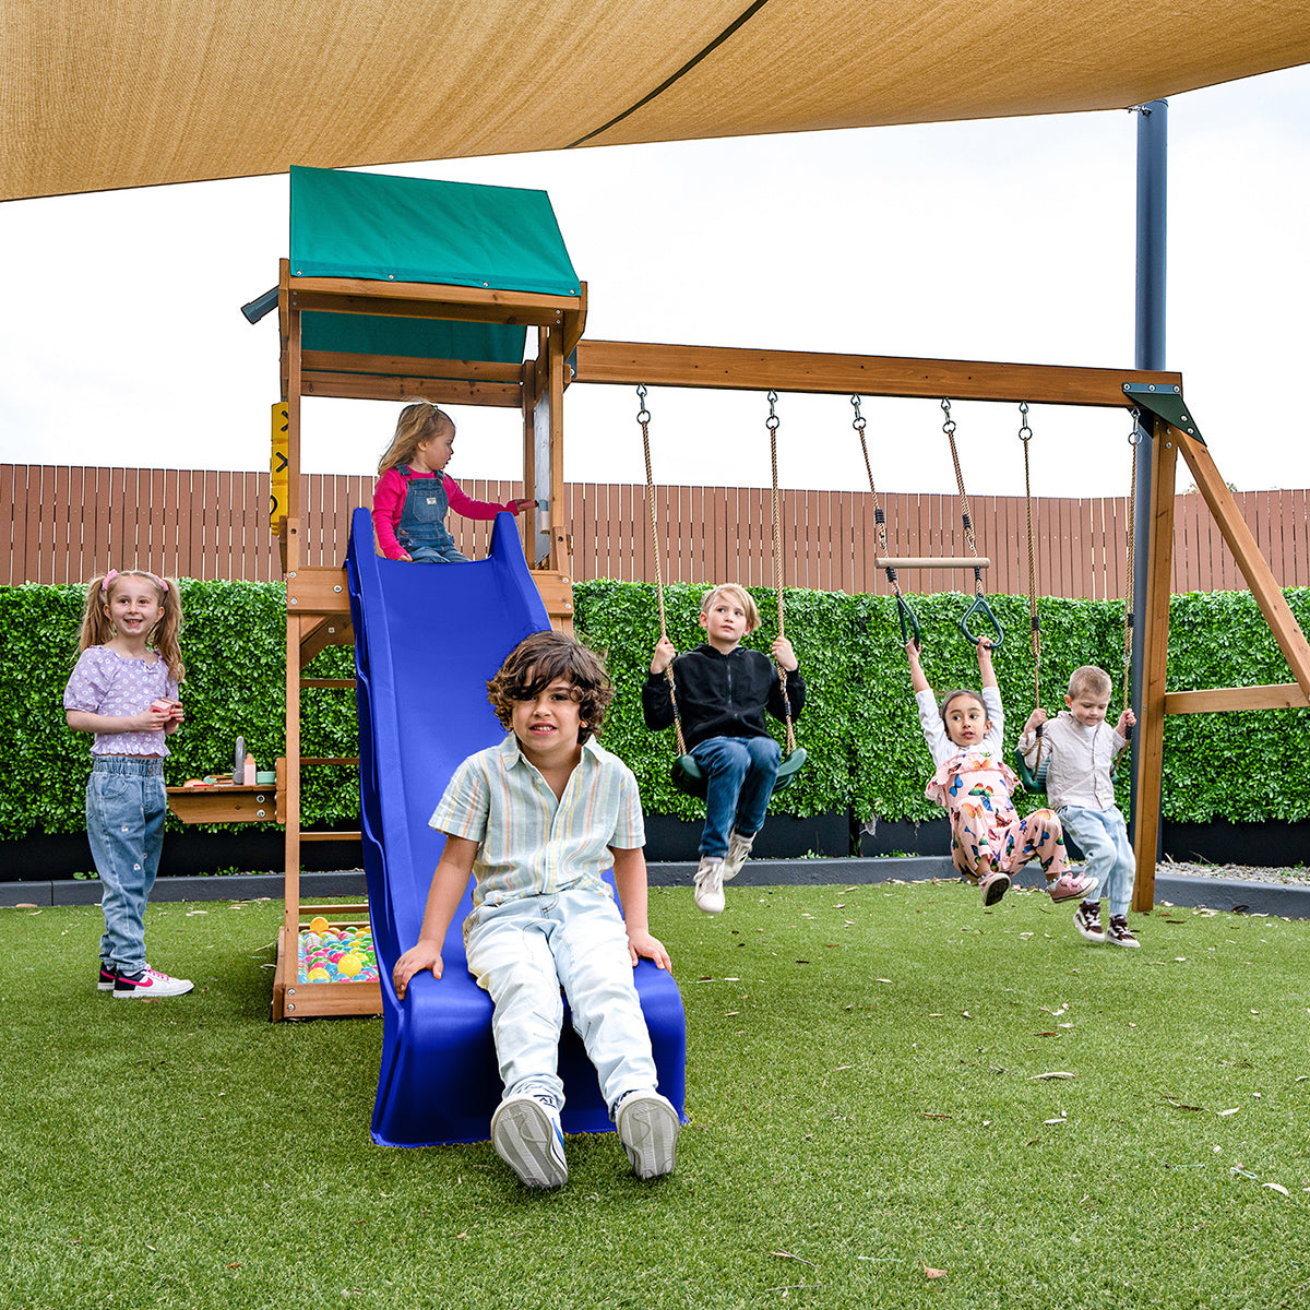
[[[100,956],[119,972],[145,968],[145,901],[164,849],[164,761],[100,756],[86,779],[86,837],[103,887]]]

